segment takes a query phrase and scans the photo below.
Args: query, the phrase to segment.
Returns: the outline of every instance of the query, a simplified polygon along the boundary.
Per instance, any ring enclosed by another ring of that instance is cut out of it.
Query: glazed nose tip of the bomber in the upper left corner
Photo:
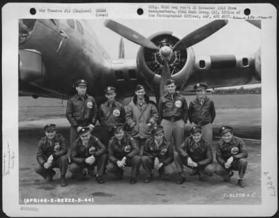
[[[19,22],[19,40],[20,45],[26,42],[31,34],[33,33],[33,29],[36,26],[36,19],[20,19]]]

